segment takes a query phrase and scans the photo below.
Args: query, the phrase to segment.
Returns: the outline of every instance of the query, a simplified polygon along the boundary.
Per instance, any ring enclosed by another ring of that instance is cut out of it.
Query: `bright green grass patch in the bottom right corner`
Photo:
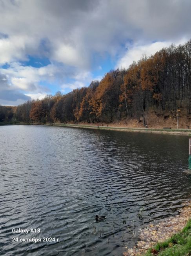
[[[186,256],[191,255],[191,219],[186,227],[179,233],[173,235],[167,241],[157,243],[154,247],[147,251],[145,256]],[[155,254],[154,254],[155,252]]]

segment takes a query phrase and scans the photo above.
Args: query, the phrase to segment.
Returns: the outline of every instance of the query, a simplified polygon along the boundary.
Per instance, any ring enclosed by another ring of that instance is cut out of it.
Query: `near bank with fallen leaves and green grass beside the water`
[[[138,230],[138,241],[124,256],[191,255],[191,202],[184,202],[175,216],[149,223]]]

